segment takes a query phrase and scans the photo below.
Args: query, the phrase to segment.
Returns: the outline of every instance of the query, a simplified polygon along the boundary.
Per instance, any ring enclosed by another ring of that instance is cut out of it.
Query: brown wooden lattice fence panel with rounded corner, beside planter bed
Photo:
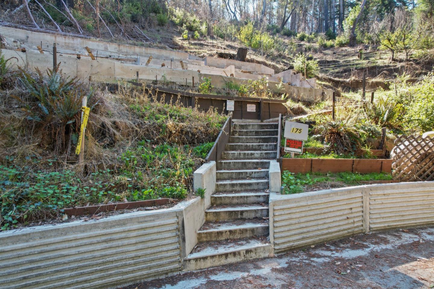
[[[434,180],[434,138],[398,136],[391,151],[394,178],[401,180]]]

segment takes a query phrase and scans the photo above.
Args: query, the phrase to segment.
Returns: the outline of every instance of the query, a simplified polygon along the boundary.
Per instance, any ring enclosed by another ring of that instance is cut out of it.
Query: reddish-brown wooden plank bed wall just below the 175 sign
[[[282,171],[308,172],[392,172],[391,159],[282,159]]]

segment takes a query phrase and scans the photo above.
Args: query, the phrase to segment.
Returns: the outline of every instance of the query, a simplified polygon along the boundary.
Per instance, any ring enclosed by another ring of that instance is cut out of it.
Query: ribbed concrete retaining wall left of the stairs
[[[109,288],[181,270],[176,208],[0,234],[0,288]]]

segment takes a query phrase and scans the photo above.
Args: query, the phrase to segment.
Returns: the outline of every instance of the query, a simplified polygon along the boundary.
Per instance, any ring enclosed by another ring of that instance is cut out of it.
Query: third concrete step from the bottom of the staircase
[[[205,220],[209,222],[230,221],[268,217],[265,205],[230,205],[212,206],[205,211]]]

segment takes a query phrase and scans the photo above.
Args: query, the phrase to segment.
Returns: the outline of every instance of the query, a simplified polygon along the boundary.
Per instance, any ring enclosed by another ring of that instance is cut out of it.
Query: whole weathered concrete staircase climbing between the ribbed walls
[[[267,257],[268,172],[276,159],[277,123],[234,123],[217,162],[216,192],[184,270]]]

